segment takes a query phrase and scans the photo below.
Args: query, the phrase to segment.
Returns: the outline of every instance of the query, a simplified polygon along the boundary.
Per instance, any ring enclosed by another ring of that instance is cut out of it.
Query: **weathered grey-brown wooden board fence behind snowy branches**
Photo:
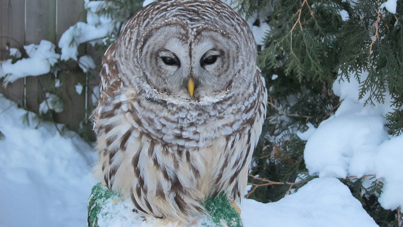
[[[85,16],[84,0],[0,0],[0,59],[9,58],[7,46],[22,48],[23,45],[39,44],[41,40],[56,44],[56,52],[60,53],[57,44],[62,34],[78,21],[85,21]],[[85,52],[85,46],[83,49]],[[78,69],[75,62],[65,65]],[[79,122],[84,118],[85,92],[77,94],[75,85],[85,84],[85,74],[79,69],[69,70],[67,67],[60,71],[58,79],[62,83],[60,89],[64,110],[56,114],[56,122],[77,130]],[[97,80],[98,77],[90,80],[89,90],[98,85]],[[0,92],[8,99],[38,113],[39,104],[44,99],[44,91],[52,87],[54,75],[48,74],[21,78],[8,84],[6,88],[0,85]],[[88,99],[91,102],[91,94]]]

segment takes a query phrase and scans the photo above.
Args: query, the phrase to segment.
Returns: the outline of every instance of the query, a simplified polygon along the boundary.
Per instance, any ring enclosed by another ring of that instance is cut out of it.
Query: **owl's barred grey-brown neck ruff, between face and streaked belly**
[[[162,144],[178,147],[204,147],[222,135],[248,130],[259,109],[258,94],[264,88],[260,75],[234,102],[232,96],[210,105],[175,105],[143,99],[134,89],[119,92],[114,105],[133,122],[139,132]]]

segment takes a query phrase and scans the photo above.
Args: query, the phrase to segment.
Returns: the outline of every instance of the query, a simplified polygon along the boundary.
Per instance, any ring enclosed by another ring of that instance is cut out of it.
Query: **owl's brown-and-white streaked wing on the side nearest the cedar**
[[[266,116],[267,89],[259,69],[256,71],[253,90],[250,97],[253,101],[248,102],[241,113],[243,116],[241,129],[226,136],[215,148],[221,150],[221,156],[214,171],[216,180],[212,193],[216,195],[224,189],[231,201],[243,197],[252,154],[258,144]]]

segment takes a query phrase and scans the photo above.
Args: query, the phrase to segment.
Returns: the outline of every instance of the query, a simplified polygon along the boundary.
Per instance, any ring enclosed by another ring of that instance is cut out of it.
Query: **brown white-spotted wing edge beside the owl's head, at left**
[[[94,130],[99,132],[99,117],[107,111],[112,99],[116,96],[116,91],[123,85],[119,78],[118,65],[116,61],[116,42],[108,47],[102,58],[102,69],[100,72],[100,97],[98,106],[94,110]]]

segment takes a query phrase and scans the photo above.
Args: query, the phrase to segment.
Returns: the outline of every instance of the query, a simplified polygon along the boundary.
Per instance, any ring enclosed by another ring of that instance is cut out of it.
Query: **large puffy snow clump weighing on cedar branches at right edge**
[[[360,75],[364,81],[368,72]],[[379,202],[386,209],[403,205],[403,135],[388,135],[385,114],[392,111],[391,95],[385,103],[364,105],[368,94],[358,99],[359,82],[352,74],[350,82],[339,77],[333,84],[340,107],[324,120],[307,140],[304,160],[310,175],[319,177],[362,177],[376,174],[382,178]],[[339,83],[340,80],[340,83]]]

